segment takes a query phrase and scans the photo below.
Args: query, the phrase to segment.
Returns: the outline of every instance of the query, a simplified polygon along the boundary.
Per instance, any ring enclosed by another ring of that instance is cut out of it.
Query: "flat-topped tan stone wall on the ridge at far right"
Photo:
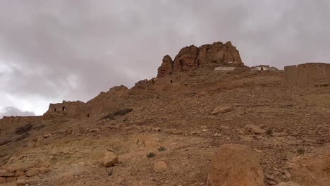
[[[305,63],[284,67],[284,85],[312,86],[330,85],[330,64]]]

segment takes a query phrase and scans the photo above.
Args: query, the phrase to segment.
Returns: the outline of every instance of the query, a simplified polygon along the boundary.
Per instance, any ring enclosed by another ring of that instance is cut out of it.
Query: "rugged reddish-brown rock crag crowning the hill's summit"
[[[215,42],[200,47],[186,46],[178,53],[174,61],[170,56],[164,56],[163,63],[158,68],[157,77],[171,75],[173,72],[183,72],[208,64],[221,66],[244,66],[239,51],[231,42]]]

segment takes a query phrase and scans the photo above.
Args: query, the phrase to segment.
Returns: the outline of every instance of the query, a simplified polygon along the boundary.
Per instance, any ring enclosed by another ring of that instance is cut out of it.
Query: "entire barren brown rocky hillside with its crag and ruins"
[[[329,77],[188,46],[130,89],[1,119],[0,185],[329,186]]]

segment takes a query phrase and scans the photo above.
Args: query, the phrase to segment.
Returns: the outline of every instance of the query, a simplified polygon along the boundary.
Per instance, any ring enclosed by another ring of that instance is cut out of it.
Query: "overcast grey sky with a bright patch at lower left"
[[[42,115],[231,40],[247,66],[330,61],[328,0],[0,0],[0,118]]]

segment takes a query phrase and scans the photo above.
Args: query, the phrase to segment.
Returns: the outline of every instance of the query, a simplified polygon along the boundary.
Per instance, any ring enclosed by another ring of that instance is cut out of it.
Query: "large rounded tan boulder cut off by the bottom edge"
[[[222,145],[212,160],[207,185],[263,186],[264,175],[257,154],[245,145]]]

